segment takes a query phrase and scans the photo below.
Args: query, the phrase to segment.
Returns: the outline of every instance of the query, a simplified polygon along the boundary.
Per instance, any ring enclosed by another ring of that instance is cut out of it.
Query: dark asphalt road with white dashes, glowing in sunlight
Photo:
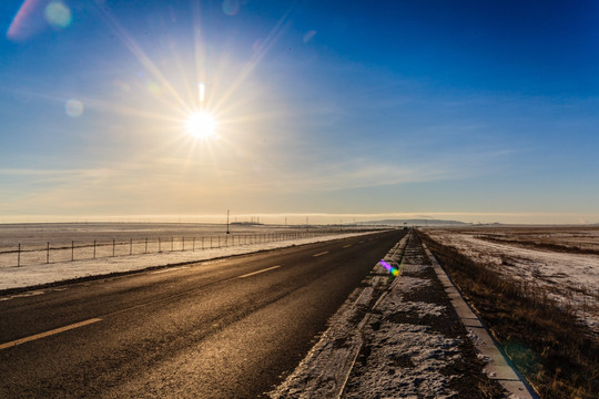
[[[403,235],[0,297],[0,398],[261,397]]]

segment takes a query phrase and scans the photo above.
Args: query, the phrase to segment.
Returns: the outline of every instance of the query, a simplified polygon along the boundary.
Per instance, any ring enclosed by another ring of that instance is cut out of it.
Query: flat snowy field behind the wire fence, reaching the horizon
[[[338,233],[342,228],[176,223],[0,225],[0,267],[205,250]],[[355,232],[355,228],[343,228]]]

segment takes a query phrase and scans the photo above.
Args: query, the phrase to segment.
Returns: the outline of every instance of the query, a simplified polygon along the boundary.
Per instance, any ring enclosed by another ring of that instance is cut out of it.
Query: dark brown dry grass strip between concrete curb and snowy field
[[[501,276],[418,235],[542,398],[597,398],[599,342],[573,311],[536,285]]]

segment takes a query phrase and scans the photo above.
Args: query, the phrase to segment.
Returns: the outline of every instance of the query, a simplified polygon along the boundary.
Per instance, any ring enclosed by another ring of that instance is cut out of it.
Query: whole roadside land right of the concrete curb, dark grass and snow
[[[423,239],[542,398],[599,391],[599,228],[427,229]]]

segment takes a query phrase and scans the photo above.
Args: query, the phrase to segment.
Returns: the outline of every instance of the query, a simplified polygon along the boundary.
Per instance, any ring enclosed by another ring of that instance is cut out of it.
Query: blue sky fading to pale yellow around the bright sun
[[[598,22],[596,1],[3,1],[0,222],[598,223]],[[199,110],[215,136],[186,131]]]

